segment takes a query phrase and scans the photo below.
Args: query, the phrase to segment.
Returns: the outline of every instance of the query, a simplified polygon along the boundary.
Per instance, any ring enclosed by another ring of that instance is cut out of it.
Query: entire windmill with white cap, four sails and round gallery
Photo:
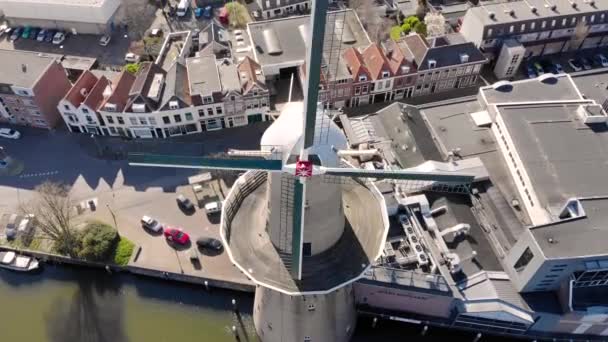
[[[318,104],[327,0],[313,1],[304,103],[285,106],[259,151],[230,158],[131,154],[130,165],[247,171],[222,209],[231,261],[256,285],[253,318],[264,342],[348,341],[352,284],[379,257],[388,232],[382,195],[370,180],[417,189],[467,188],[472,176],[362,170],[341,160],[346,137]],[[320,129],[321,128],[321,129]]]

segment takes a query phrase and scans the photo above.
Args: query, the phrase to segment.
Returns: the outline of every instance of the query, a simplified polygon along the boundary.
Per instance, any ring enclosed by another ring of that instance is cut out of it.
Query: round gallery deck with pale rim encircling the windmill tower
[[[226,197],[221,234],[232,262],[256,283],[288,294],[330,292],[358,279],[378,257],[388,226],[383,197],[376,187],[355,182],[336,185],[342,191],[345,216],[342,236],[326,251],[304,256],[302,278],[295,280],[289,255],[273,246],[268,234],[267,175],[245,173]],[[324,217],[319,215],[318,220]],[[306,225],[315,225],[314,221]]]

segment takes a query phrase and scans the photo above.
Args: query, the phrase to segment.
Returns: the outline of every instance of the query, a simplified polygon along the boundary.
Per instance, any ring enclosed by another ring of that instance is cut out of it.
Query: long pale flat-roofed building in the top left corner
[[[0,13],[13,26],[103,34],[112,28],[121,0],[0,0]]]

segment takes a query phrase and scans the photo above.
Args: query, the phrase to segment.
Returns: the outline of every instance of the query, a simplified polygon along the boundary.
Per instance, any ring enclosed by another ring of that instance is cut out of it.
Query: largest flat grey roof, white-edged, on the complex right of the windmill
[[[587,126],[578,104],[499,106],[542,206],[608,195],[608,129]]]

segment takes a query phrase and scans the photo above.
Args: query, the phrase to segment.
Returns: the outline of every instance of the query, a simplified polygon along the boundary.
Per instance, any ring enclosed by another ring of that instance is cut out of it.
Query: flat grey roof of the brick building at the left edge
[[[0,66],[2,67],[0,82],[17,87],[32,88],[42,73],[55,60],[60,61],[61,56],[0,50]]]

